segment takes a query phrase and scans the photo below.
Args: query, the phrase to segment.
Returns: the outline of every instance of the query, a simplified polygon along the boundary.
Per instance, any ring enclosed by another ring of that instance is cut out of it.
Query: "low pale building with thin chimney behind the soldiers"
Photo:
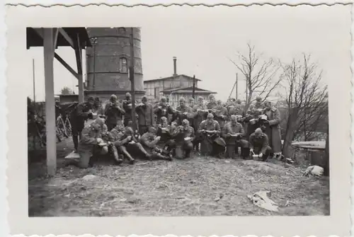
[[[151,102],[159,100],[161,96],[166,96],[169,99],[169,103],[173,107],[176,107],[180,98],[183,97],[186,100],[192,98],[193,83],[195,83],[195,101],[198,99],[198,96],[202,96],[207,100],[210,94],[216,93],[198,88],[199,81],[201,80],[193,79],[191,76],[177,74],[177,59],[173,57],[173,75],[161,79],[144,81],[144,90]]]

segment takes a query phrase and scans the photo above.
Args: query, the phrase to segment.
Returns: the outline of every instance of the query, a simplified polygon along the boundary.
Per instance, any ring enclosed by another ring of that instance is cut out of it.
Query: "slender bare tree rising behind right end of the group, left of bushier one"
[[[275,79],[280,66],[273,61],[261,61],[261,54],[256,54],[254,46],[247,44],[248,53],[238,52],[239,62],[229,59],[246,79],[246,110],[253,99],[253,93],[263,98],[263,101],[271,95],[280,84],[281,78]]]

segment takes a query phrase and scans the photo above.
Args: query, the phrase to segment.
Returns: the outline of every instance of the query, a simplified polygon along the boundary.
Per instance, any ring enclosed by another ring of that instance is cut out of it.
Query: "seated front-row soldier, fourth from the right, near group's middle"
[[[174,137],[176,141],[176,158],[189,158],[190,152],[193,151],[195,133],[193,127],[189,126],[188,120],[183,120],[182,126],[177,127]]]

